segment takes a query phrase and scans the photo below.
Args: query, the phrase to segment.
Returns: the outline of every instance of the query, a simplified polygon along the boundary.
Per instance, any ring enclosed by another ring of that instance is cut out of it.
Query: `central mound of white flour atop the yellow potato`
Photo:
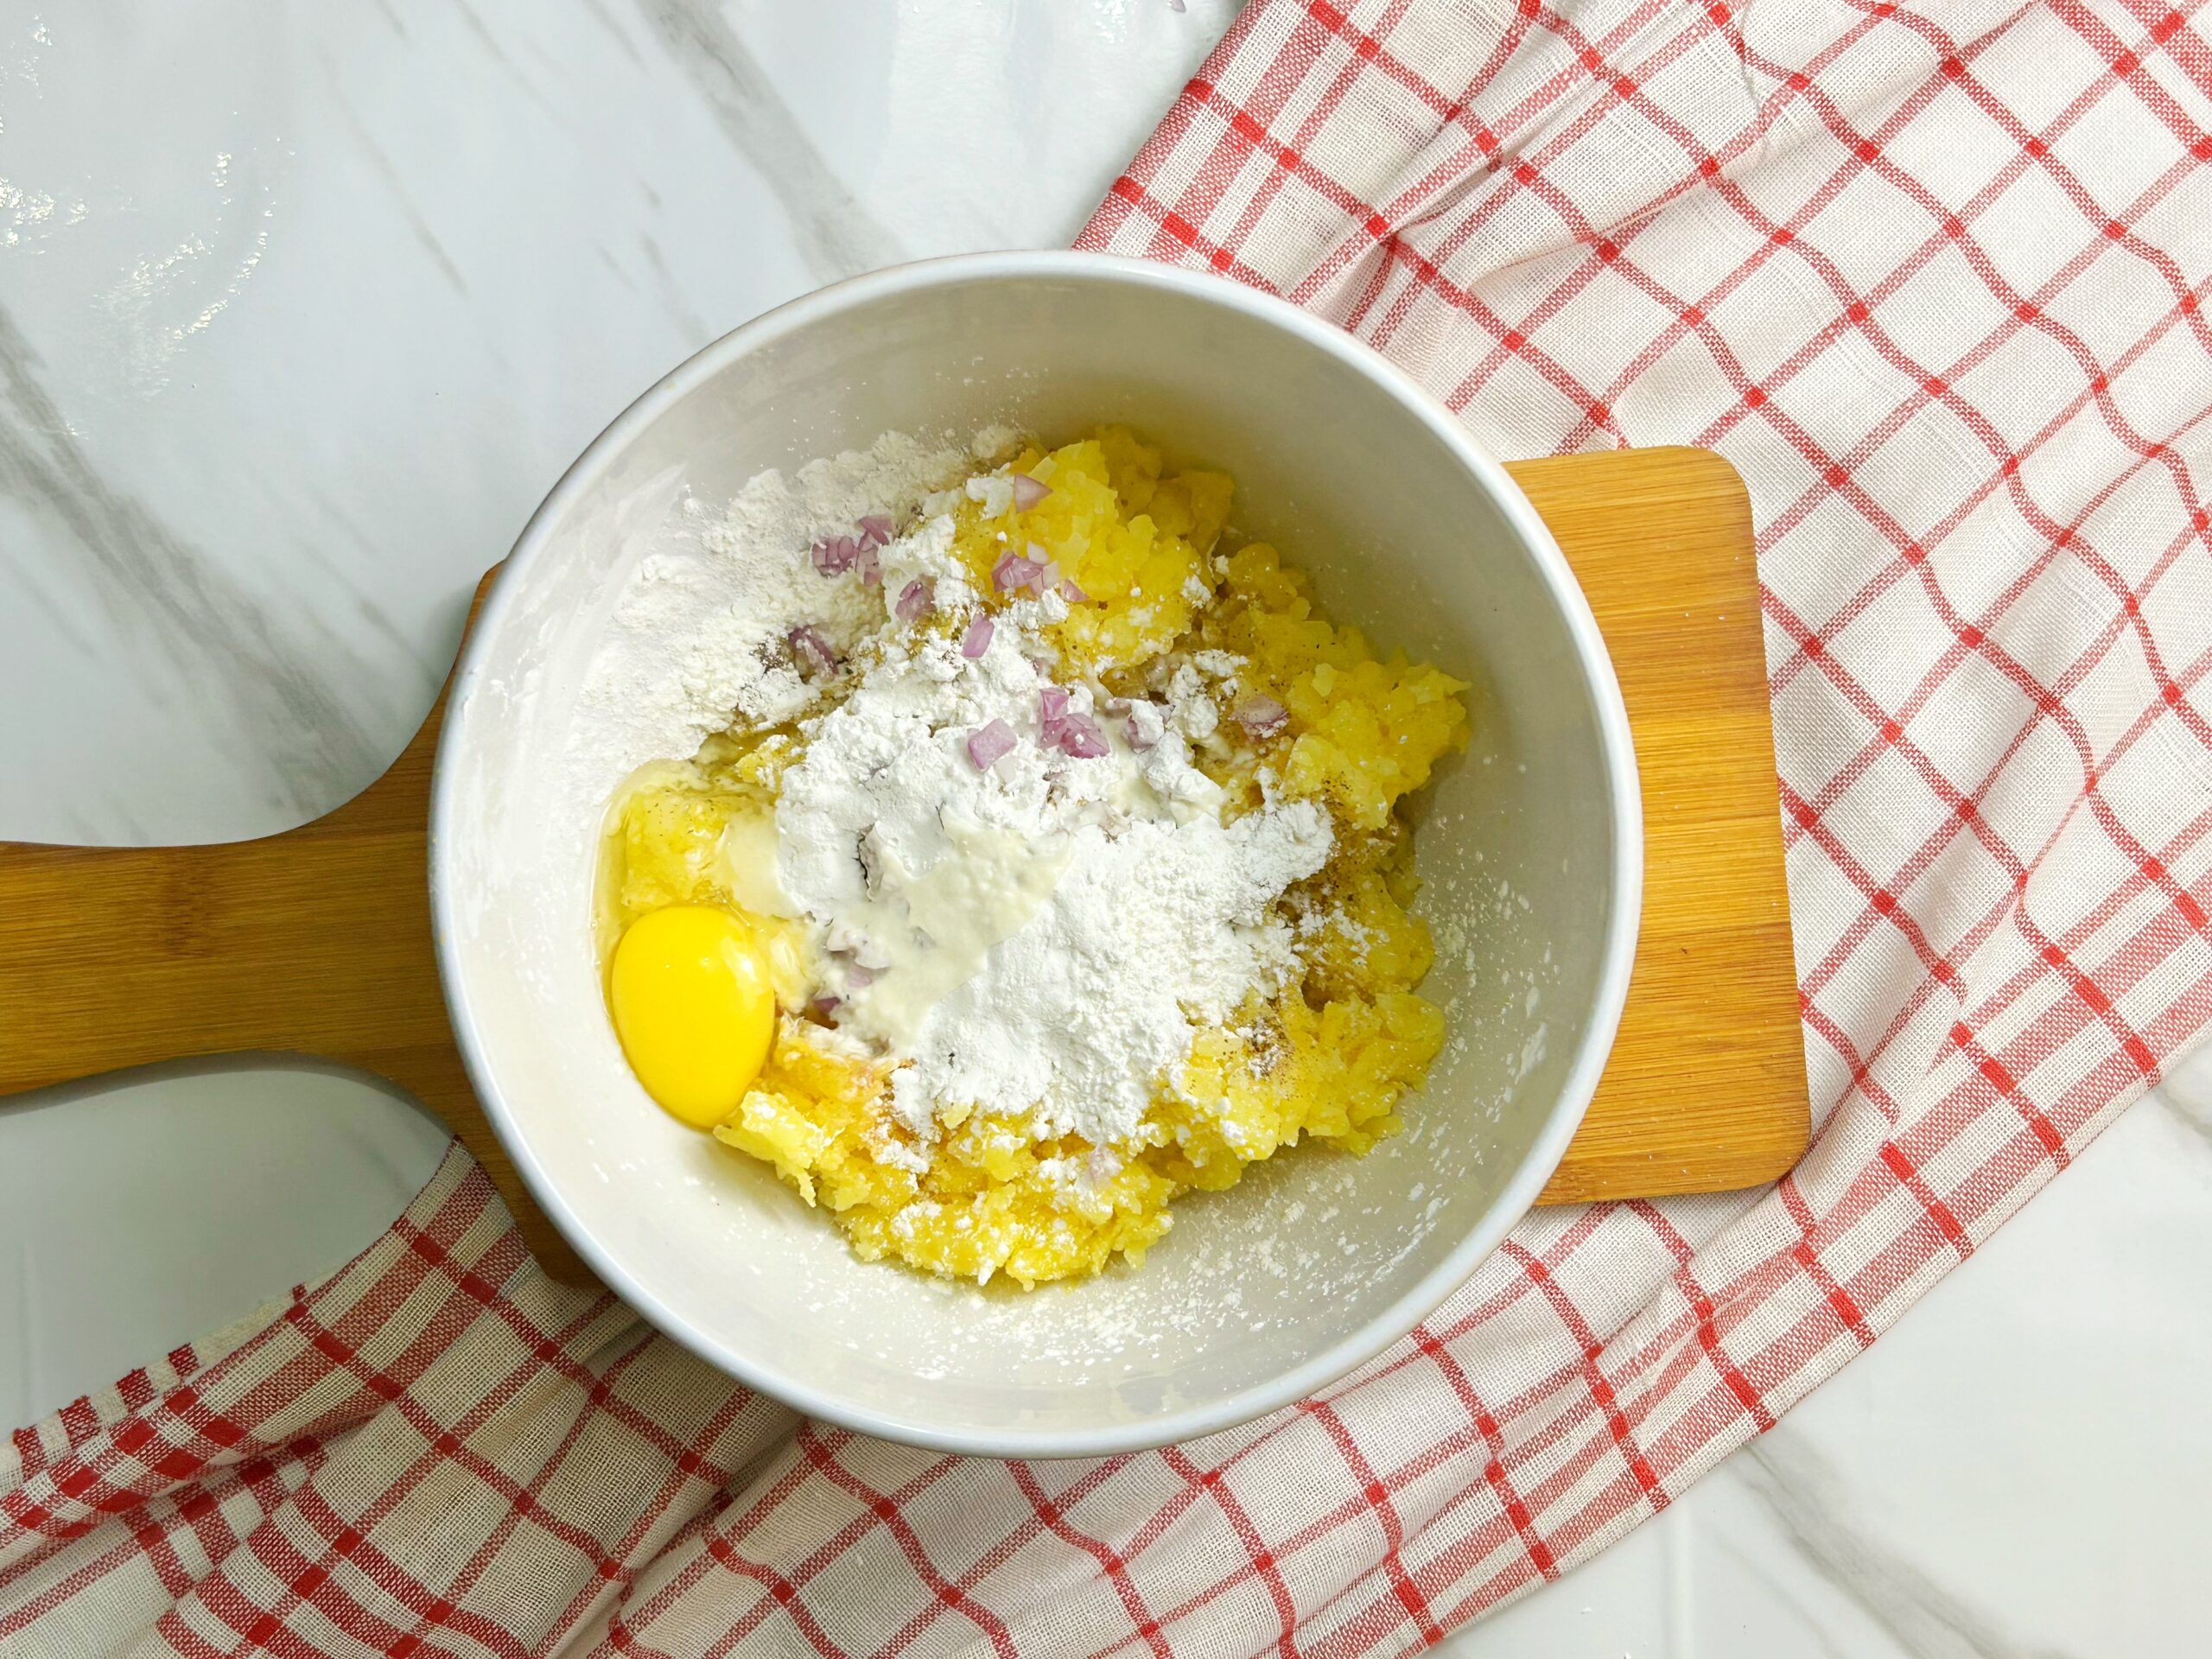
[[[951,639],[894,646],[847,703],[810,723],[783,776],[779,878],[838,951],[838,1029],[911,1055],[894,1110],[918,1135],[947,1106],[1031,1113],[1040,1137],[1095,1146],[1137,1128],[1190,1051],[1190,1020],[1225,1020],[1290,964],[1267,905],[1329,854],[1312,803],[1219,821],[1219,790],[1168,732],[1068,759],[1042,743],[1031,657],[1000,615],[980,659]],[[1071,688],[1075,712],[1091,690]],[[993,719],[1015,745],[978,770],[967,739]],[[1152,779],[1170,781],[1170,792]],[[1208,810],[1172,790],[1197,779]],[[845,969],[863,969],[854,984]]]

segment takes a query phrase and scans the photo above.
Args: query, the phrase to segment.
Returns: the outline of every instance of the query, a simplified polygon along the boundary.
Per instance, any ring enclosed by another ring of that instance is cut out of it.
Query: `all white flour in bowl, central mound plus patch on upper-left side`
[[[973,659],[958,628],[916,641],[887,626],[887,597],[916,577],[936,584],[938,615],[973,613],[949,553],[953,498],[931,493],[1002,449],[1002,434],[967,449],[889,436],[794,482],[752,480],[697,553],[639,568],[586,719],[628,770],[690,754],[732,714],[796,717],[805,757],[783,776],[774,874],[814,925],[843,1037],[911,1060],[894,1113],[925,1141],[942,1110],[975,1106],[1026,1113],[1040,1139],[1108,1146],[1172,1084],[1194,1020],[1230,1018],[1292,967],[1290,929],[1267,909],[1321,869],[1329,823],[1312,803],[1221,823],[1221,792],[1188,748],[1219,712],[1188,668],[1168,703],[1126,719],[1064,686],[1106,752],[1051,745],[1053,653],[1035,630],[1066,615],[1055,595],[995,613]],[[975,480],[967,495],[1004,511],[1011,484]],[[821,575],[807,546],[865,513],[925,518],[883,549],[880,586]],[[821,688],[790,661],[794,626],[852,657],[834,708],[816,708]],[[1206,664],[1221,681],[1239,666]],[[978,768],[969,739],[993,723],[1011,748]]]

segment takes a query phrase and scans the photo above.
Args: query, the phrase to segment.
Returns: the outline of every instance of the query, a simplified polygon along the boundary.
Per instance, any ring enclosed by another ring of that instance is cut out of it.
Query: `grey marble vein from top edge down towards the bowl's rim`
[[[714,0],[639,0],[639,13],[739,155],[776,192],[816,279],[836,281],[902,259],[898,237],[836,177]]]

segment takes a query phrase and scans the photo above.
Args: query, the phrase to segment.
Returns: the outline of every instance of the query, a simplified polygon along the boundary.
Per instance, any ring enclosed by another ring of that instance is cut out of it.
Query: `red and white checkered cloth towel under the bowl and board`
[[[1743,469],[1803,1168],[1535,1214],[1321,1400],[1009,1467],[732,1389],[456,1155],[15,1436],[0,1652],[1405,1652],[1774,1422],[2203,1031],[2205,31],[1553,4],[1254,0],[1084,241],[1312,305],[1504,453]]]

